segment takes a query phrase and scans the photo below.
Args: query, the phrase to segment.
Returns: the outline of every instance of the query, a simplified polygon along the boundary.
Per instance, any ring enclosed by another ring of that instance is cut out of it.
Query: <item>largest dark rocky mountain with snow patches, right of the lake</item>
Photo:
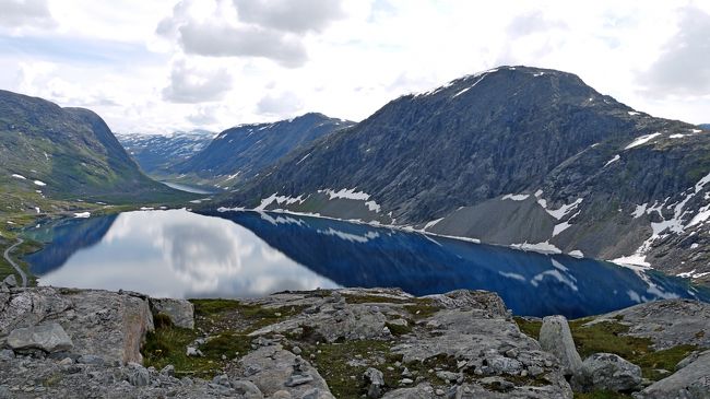
[[[500,67],[397,98],[224,207],[390,223],[710,281],[710,134],[575,74]],[[707,187],[706,187],[707,186]]]

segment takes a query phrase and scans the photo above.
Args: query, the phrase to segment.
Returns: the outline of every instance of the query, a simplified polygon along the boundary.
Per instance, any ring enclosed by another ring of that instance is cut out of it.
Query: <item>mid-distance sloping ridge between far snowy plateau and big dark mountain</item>
[[[221,132],[204,150],[169,168],[178,181],[229,187],[259,174],[289,151],[353,122],[305,114],[272,124],[241,125]]]

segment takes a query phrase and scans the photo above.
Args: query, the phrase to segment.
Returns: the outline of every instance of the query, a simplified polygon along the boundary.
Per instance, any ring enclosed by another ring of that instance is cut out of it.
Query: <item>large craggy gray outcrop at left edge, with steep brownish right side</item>
[[[0,303],[0,338],[50,322],[63,326],[72,353],[123,364],[142,361],[141,342],[153,330],[146,298],[130,293],[43,286],[12,292]]]

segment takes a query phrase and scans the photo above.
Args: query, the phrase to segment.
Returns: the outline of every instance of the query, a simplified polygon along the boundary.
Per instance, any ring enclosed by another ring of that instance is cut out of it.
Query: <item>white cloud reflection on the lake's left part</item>
[[[338,286],[240,225],[181,210],[121,213],[98,246],[79,250],[40,283],[174,297]]]

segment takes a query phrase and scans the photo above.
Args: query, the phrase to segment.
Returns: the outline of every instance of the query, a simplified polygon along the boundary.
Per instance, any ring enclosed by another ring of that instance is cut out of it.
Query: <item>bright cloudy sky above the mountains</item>
[[[710,122],[710,0],[0,0],[0,89],[115,132],[359,121],[505,64]]]

